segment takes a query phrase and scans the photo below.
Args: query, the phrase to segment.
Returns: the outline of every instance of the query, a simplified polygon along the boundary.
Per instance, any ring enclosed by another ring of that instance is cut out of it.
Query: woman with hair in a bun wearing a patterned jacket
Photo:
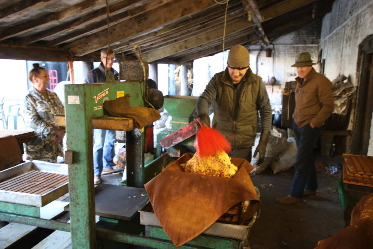
[[[23,118],[26,128],[35,130],[40,136],[26,143],[26,159],[55,163],[57,156],[63,156],[62,138],[65,130],[54,125],[54,115],[63,114],[64,107],[57,94],[47,89],[49,77],[46,69],[38,63],[28,74],[33,87],[23,100]]]

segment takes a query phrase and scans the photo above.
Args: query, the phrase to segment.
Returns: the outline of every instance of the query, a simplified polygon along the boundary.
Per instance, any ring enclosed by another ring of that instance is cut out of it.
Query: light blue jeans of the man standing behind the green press
[[[101,175],[102,169],[111,168],[115,156],[115,131],[93,129],[94,175]]]

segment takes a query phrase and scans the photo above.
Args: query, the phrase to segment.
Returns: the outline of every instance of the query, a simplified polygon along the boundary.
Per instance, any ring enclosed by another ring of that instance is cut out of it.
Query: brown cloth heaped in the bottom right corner
[[[351,212],[350,225],[320,240],[315,249],[373,248],[373,194],[363,196]]]

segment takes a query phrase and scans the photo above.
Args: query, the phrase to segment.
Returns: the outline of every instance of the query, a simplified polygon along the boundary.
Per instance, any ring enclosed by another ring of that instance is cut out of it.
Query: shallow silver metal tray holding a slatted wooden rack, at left
[[[27,175],[31,174],[38,177],[33,183],[33,190],[26,185],[29,181]],[[16,187],[2,187],[0,201],[42,207],[69,192],[68,165],[37,160],[26,161],[0,171],[0,186],[9,181]]]

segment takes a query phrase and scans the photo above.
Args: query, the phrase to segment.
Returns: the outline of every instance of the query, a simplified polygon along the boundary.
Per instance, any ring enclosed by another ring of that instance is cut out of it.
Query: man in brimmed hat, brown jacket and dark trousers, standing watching
[[[313,69],[309,53],[301,53],[295,64],[298,77],[295,88],[293,131],[297,143],[295,175],[288,196],[278,198],[280,204],[301,204],[303,196],[316,196],[317,177],[313,148],[323,124],[334,109],[332,83]]]

